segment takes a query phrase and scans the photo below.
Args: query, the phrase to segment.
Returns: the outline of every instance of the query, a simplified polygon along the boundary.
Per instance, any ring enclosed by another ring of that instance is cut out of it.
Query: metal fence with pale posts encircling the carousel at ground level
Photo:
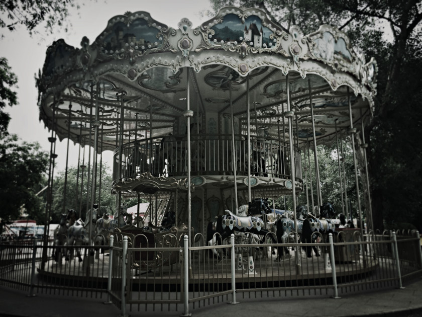
[[[221,301],[338,297],[362,290],[401,288],[422,276],[417,232],[398,236],[386,232],[362,238],[357,230],[312,244],[257,244],[253,238],[233,235],[221,245],[208,246],[204,237],[196,234],[189,248],[186,235],[177,240],[174,234],[165,234],[162,241],[148,244],[144,234],[117,234],[106,248],[109,256],[99,259],[94,253],[100,252],[100,246],[64,248],[42,246],[37,240],[4,242],[0,244],[0,284],[30,295],[105,294],[107,302],[114,303],[123,315],[127,310],[157,308],[183,309],[187,315],[192,309]],[[320,256],[308,258],[302,251],[306,247],[315,247]],[[43,259],[44,248],[48,259]],[[60,249],[64,256],[56,262],[54,257]],[[81,262],[77,251],[82,255]]]

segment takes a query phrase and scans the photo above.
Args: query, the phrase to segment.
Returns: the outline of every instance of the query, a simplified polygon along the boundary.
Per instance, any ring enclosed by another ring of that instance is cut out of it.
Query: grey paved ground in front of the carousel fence
[[[120,310],[113,304],[103,304],[105,298],[82,298],[54,294],[27,297],[27,292],[0,286],[0,316],[16,317],[116,317]],[[242,299],[239,304],[221,302],[212,306],[190,309],[193,316],[422,316],[422,279],[404,289],[348,294],[340,299],[330,297],[288,299]],[[167,309],[165,307],[164,309]],[[131,316],[179,316],[178,311],[132,311]]]

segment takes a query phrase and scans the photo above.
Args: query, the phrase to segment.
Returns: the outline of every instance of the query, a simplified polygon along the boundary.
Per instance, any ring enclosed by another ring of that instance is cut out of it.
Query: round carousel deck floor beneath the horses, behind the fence
[[[254,258],[254,270],[250,270],[250,263],[248,263],[248,255],[243,255],[243,266],[238,266],[239,262],[235,264],[236,267],[236,283],[245,282],[259,282],[261,287],[268,283],[283,281],[284,284],[295,285],[309,285],[309,284],[325,284],[332,278],[332,269],[330,261],[328,265],[324,265],[324,258],[328,258],[322,254],[320,257],[315,257],[312,253],[312,258],[307,258],[305,253],[300,252],[300,263],[296,264],[294,251],[289,251],[290,254],[284,256],[281,261],[276,260],[276,255],[271,255],[270,252],[264,257]],[[90,261],[88,260],[90,258]],[[197,252],[192,251],[191,255],[191,270],[189,272],[189,283],[193,284],[219,284],[231,282],[231,261],[230,259],[217,259],[206,256],[198,257]],[[238,258],[237,258],[238,260]],[[89,263],[90,262],[90,263]],[[371,273],[378,267],[378,261],[372,257],[365,256],[365,261],[362,256],[355,255],[353,261],[340,262],[336,259],[336,275],[337,277],[355,279],[360,278],[366,274]],[[39,270],[42,277],[47,277],[49,282],[63,281],[71,279],[73,283],[77,280],[92,282],[96,285],[107,285],[107,278],[109,275],[109,256],[108,254],[99,255],[98,259],[95,257],[85,257],[82,262],[77,259],[71,261],[62,260],[61,265],[49,260],[44,270]],[[115,275],[116,274],[116,275]],[[182,282],[182,269],[178,267],[177,263],[157,267],[154,269],[142,269],[138,265],[132,265],[130,272],[130,282],[139,284],[166,284],[179,285]],[[120,276],[119,273],[113,273],[114,276]],[[324,282],[326,280],[326,282]],[[255,285],[257,286],[257,285]]]

